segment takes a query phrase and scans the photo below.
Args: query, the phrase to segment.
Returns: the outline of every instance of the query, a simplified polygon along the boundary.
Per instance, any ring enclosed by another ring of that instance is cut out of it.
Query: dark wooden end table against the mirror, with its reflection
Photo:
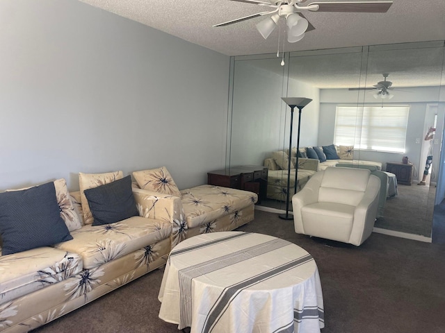
[[[207,184],[232,189],[244,189],[258,195],[258,203],[267,196],[266,167],[241,165],[207,173]]]

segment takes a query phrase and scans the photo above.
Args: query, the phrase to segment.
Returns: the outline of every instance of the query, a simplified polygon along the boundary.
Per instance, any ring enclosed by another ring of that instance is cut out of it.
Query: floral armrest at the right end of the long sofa
[[[172,224],[172,246],[185,239],[188,225],[181,198],[136,188],[133,188],[133,196],[140,216]]]

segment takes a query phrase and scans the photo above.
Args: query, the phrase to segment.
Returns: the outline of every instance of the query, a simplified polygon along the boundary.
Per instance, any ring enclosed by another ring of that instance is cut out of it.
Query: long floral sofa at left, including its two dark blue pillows
[[[69,193],[63,179],[0,193],[0,332],[33,330],[165,264],[172,247],[174,200],[138,193],[122,171],[81,173],[79,183],[88,199],[81,191]],[[116,190],[115,184],[123,203],[100,196],[104,187]],[[130,207],[130,217],[95,225],[106,222],[97,210],[101,200]],[[29,230],[13,232],[4,217],[17,218],[26,207],[34,210],[29,219],[20,216],[28,219]],[[31,239],[38,236],[48,239]]]

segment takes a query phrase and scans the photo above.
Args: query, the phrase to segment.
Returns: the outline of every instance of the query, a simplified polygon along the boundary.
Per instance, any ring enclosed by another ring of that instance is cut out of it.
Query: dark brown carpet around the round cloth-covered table
[[[322,333],[445,332],[444,245],[377,233],[359,247],[337,244],[296,234],[293,221],[258,210],[238,230],[280,237],[312,254],[325,302]],[[181,332],[158,318],[162,275],[148,273],[34,332]]]

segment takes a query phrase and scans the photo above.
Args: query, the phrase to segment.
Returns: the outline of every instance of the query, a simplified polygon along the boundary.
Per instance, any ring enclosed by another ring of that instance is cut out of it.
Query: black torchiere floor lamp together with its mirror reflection
[[[297,174],[298,174],[298,148],[300,148],[300,121],[301,110],[307,104],[312,102],[312,99],[306,99],[305,97],[282,97],[284,103],[291,107],[291,134],[289,135],[289,164],[287,168],[287,192],[286,192],[286,214],[279,214],[280,219],[291,220],[293,215],[289,214],[289,196],[291,187],[291,156],[292,156],[292,125],[293,125],[293,109],[298,108],[298,133],[297,133],[297,162],[295,166],[295,185],[293,193],[297,191]]]

